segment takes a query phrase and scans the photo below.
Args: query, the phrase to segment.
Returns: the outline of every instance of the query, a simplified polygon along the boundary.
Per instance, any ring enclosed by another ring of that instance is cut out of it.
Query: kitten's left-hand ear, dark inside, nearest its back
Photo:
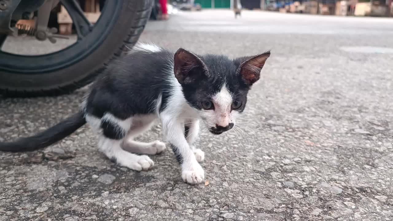
[[[192,83],[207,72],[203,61],[184,48],[179,48],[174,54],[173,70],[174,76],[180,84]]]

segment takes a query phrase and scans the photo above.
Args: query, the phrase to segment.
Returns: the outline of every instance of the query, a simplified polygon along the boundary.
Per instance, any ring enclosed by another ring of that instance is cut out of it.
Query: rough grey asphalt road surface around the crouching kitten
[[[115,166],[86,126],[42,151],[0,153],[1,221],[393,220],[393,19],[203,11],[150,22],[141,41],[272,50],[242,117],[255,125],[201,134],[206,185],[185,184],[169,149],[150,171]],[[2,99],[0,140],[66,118],[85,91]]]

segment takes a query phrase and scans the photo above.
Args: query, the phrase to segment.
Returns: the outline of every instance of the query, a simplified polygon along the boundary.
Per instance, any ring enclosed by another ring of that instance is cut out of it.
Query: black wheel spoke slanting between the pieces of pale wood
[[[63,6],[67,9],[68,14],[72,18],[72,22],[75,25],[78,39],[85,37],[90,31],[92,31],[92,24],[84,16],[81,6],[79,6],[77,0],[61,0]]]

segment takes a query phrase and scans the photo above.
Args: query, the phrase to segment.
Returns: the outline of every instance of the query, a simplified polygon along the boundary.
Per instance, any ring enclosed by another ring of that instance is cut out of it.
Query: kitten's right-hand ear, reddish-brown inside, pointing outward
[[[261,70],[266,62],[266,59],[270,56],[270,51],[253,56],[253,57],[242,57],[239,58],[242,62],[239,66],[240,76],[247,85],[253,85],[253,83],[259,80]],[[239,60],[237,60],[239,61]]]

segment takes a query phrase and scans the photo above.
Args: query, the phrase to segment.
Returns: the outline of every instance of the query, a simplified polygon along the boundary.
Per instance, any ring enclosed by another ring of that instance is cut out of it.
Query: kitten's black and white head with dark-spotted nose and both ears
[[[235,125],[247,103],[247,93],[259,80],[270,52],[228,59],[223,55],[197,56],[183,48],[174,55],[174,74],[185,99],[213,134]]]

